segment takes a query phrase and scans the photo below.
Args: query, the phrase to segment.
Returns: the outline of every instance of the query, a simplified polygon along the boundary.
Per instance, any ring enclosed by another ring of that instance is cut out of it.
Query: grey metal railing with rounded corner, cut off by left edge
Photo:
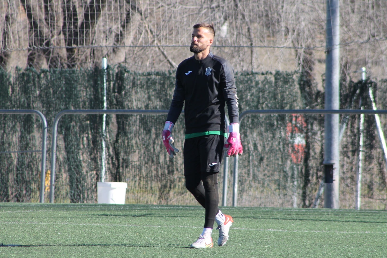
[[[46,179],[46,151],[47,151],[47,120],[46,117],[38,110],[0,110],[0,114],[8,115],[38,115],[42,120],[42,149],[38,152],[42,153],[41,158],[41,174],[40,174],[40,193],[39,193],[39,202],[45,202],[45,179]],[[10,153],[3,152],[3,153]],[[37,152],[37,151],[12,151],[12,153],[27,153],[27,152]]]

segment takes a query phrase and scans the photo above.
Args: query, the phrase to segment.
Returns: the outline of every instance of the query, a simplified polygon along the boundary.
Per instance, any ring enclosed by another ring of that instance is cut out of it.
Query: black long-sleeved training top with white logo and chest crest
[[[225,103],[230,123],[238,123],[238,97],[231,65],[212,52],[203,60],[192,56],[181,62],[176,70],[175,93],[167,121],[176,123],[184,102],[186,134],[226,132]]]

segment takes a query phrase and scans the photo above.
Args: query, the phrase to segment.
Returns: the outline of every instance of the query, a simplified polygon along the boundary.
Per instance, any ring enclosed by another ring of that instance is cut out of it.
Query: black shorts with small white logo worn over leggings
[[[184,175],[219,172],[223,157],[224,136],[210,134],[185,139]]]

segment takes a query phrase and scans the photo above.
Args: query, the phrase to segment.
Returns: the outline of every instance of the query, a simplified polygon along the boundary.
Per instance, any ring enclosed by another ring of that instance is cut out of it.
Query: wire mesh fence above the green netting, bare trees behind
[[[387,3],[339,0],[343,76],[367,67],[386,74]],[[236,71],[324,73],[326,1],[2,0],[0,65],[74,68],[124,64],[174,69],[188,54],[192,26],[212,22],[214,51]]]

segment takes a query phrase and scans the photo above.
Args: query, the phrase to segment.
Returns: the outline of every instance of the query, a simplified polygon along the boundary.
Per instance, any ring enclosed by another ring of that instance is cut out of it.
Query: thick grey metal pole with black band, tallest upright
[[[327,0],[325,109],[339,109],[339,0]],[[339,208],[339,114],[325,115],[324,208]]]

